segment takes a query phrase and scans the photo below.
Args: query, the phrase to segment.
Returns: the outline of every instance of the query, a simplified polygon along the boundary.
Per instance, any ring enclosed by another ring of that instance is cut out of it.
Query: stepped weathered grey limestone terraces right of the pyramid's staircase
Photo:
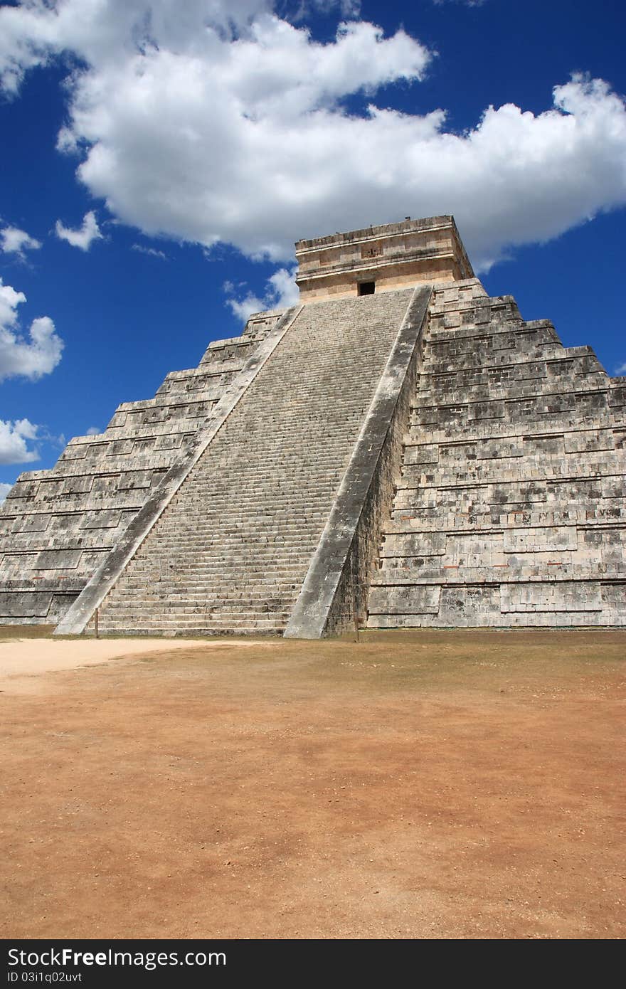
[[[626,381],[435,287],[370,627],[626,624]]]

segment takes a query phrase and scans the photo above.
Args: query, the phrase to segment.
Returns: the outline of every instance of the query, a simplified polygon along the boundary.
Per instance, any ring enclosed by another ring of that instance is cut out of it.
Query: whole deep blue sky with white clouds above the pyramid
[[[453,213],[490,294],[623,373],[625,29],[618,0],[0,4],[0,493],[292,302],[296,239],[406,215]]]

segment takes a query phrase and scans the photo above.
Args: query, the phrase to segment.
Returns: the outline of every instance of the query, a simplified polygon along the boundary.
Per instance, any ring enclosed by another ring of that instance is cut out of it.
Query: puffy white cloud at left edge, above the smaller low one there
[[[18,376],[37,381],[61,359],[63,341],[56,335],[49,316],[33,320],[28,340],[22,335],[17,309],[24,302],[24,293],[4,285],[0,278],[0,381]]]

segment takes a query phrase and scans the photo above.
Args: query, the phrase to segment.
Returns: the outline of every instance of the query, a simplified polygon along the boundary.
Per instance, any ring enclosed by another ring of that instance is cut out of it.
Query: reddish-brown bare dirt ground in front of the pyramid
[[[3,937],[624,937],[626,633],[162,645],[4,684]]]

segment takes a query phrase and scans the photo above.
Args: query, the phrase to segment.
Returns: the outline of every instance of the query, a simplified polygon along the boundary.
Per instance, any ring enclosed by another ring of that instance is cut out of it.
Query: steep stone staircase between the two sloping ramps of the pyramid
[[[282,632],[411,296],[304,308],[104,599],[101,633]]]

